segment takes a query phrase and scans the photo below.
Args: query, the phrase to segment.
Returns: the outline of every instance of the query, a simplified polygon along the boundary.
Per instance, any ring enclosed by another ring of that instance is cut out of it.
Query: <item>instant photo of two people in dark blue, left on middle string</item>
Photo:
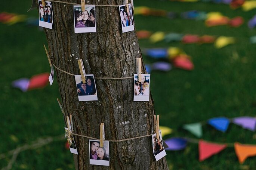
[[[75,83],[79,101],[98,100],[93,74],[86,74],[86,83],[83,83],[81,75],[75,75]]]

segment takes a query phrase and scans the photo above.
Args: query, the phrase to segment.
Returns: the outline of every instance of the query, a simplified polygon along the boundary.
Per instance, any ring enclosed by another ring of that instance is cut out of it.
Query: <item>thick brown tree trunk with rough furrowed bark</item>
[[[81,3],[80,0],[72,2]],[[86,3],[120,5],[123,1],[89,0]],[[73,5],[52,2],[52,9],[53,29],[45,29],[45,33],[50,57],[57,67],[80,74],[77,60],[83,59],[86,74],[95,77],[130,77],[136,73],[136,58],[142,57],[138,38],[135,31],[122,33],[118,7],[96,6],[96,33],[74,33]],[[139,137],[154,131],[152,97],[150,95],[149,102],[133,102],[132,78],[96,79],[98,101],[79,102],[74,76],[56,69],[55,72],[65,114],[73,116],[75,133],[99,138],[101,122],[105,123],[105,140]],[[146,73],[144,64],[142,72]],[[77,170],[168,169],[165,158],[155,160],[151,137],[110,142],[110,168],[90,165],[88,139],[74,137]]]

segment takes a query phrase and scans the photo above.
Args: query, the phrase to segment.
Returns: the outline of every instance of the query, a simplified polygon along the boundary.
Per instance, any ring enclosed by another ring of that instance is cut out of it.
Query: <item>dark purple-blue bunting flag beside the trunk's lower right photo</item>
[[[164,148],[164,149],[168,151],[183,150],[184,148],[186,148],[186,145],[187,145],[187,140],[185,138],[180,138],[180,137],[173,137],[173,138],[166,139],[164,141],[168,145],[168,148]]]

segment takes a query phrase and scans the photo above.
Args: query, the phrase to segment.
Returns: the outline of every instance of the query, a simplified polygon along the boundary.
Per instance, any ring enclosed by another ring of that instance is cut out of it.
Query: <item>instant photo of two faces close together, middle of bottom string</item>
[[[90,164],[109,166],[109,143],[104,141],[100,147],[100,141],[89,140]]]

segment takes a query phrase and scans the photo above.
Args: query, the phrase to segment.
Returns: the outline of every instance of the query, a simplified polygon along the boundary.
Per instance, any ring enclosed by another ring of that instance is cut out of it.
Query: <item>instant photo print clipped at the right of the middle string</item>
[[[133,101],[149,101],[150,74],[141,74],[142,81],[139,82],[138,74],[134,74],[134,97]]]

